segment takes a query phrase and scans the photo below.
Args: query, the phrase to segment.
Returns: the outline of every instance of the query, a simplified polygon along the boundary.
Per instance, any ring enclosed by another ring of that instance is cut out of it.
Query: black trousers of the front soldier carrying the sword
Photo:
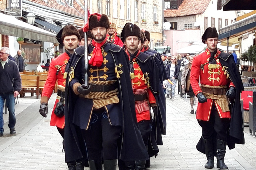
[[[105,111],[94,110],[88,130],[81,129],[88,152],[88,160],[102,161],[102,147],[104,160],[118,158],[117,140],[120,137],[122,127],[111,126]]]

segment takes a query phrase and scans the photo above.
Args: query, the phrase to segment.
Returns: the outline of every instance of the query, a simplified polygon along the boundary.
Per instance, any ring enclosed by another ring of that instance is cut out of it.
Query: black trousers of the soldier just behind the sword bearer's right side
[[[149,135],[150,135],[150,132],[152,131],[152,123],[150,120],[143,120],[143,121],[140,121],[138,125],[140,128],[140,133],[144,141],[144,144],[145,146],[147,146]]]

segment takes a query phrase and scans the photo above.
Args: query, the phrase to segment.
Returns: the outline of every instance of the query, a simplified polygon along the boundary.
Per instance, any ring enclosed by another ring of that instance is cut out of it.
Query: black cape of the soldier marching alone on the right
[[[244,144],[243,118],[240,103],[240,93],[244,90],[244,86],[236,67],[234,56],[232,54],[229,55],[228,53],[221,52],[218,58],[222,66],[228,67],[227,71],[230,74],[230,80],[233,82],[236,88],[236,96],[233,100],[230,100],[231,121],[227,139],[229,149],[233,149],[235,148],[236,143]],[[213,141],[216,141],[216,134],[213,136]],[[202,137],[196,145],[196,148],[198,151],[205,153]],[[214,155],[216,156],[216,149]]]

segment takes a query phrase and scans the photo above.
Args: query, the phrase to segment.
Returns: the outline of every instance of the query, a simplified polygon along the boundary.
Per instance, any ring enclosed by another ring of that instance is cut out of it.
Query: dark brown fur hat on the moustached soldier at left
[[[80,34],[79,32],[77,31],[77,28],[73,25],[66,25],[65,27],[63,27],[59,33],[57,34],[56,38],[58,40],[58,42],[61,44],[61,45],[64,45],[63,44],[63,40],[66,36],[72,36],[72,35],[75,35],[77,36],[78,40],[80,40]]]

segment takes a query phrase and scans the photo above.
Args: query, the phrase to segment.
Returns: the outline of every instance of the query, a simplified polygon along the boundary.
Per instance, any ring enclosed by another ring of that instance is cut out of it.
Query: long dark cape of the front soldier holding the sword
[[[84,46],[78,47],[70,58],[65,72],[70,72],[71,67],[75,69],[79,60],[84,60]],[[120,136],[119,159],[123,161],[147,160],[149,159],[147,149],[144,145],[135,113],[135,101],[130,79],[128,56],[121,47],[106,43],[104,51],[111,53],[116,64],[123,65],[123,73],[118,78],[118,89],[120,93],[120,105],[122,110],[122,134]],[[89,69],[88,69],[89,70]],[[65,100],[65,161],[76,160],[84,155],[79,147],[79,134],[77,127],[72,123],[73,110],[78,95],[75,95],[69,85],[69,74],[66,79]],[[76,153],[76,154],[75,154]],[[78,154],[79,153],[79,154]],[[78,155],[78,156],[76,156]]]

